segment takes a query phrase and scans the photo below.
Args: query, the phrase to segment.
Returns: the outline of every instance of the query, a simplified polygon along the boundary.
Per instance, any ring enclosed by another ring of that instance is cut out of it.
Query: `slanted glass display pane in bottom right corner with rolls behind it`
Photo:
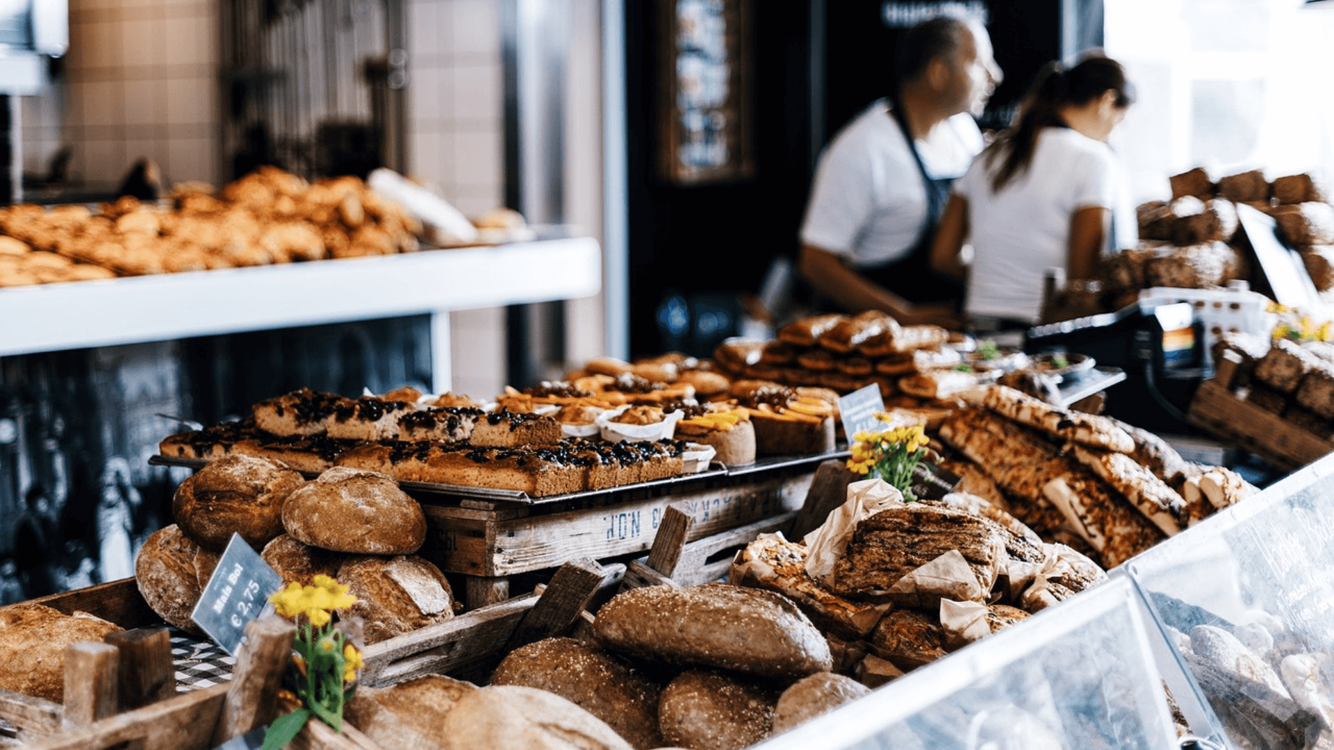
[[[1331,540],[1334,455],[1126,563],[1211,709],[1213,726],[1193,730],[1233,747],[1334,747]]]

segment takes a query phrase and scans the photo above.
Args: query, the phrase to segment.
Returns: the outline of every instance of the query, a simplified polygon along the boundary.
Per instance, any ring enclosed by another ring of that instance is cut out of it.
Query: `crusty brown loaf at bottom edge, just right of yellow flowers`
[[[343,718],[363,734],[395,750],[436,750],[446,743],[442,723],[476,685],[428,674],[392,687],[358,687]]]

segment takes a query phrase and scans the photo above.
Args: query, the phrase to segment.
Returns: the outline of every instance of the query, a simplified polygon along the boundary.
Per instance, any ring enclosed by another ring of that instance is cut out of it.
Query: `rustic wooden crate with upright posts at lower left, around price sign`
[[[466,613],[448,622],[367,646],[360,683],[383,687],[428,673],[472,677],[470,673],[478,669],[490,671],[495,662],[518,646],[568,633],[594,595],[600,589],[619,585],[623,574],[624,566],[603,567],[592,560],[575,560],[562,566],[540,594]],[[129,591],[137,594],[133,579],[93,589],[97,591],[72,591],[47,598],[47,602],[103,602],[105,609],[99,610],[101,613],[135,609],[129,597]],[[116,682],[115,666],[109,677],[105,671],[107,659],[115,661],[115,654],[108,654],[109,647],[100,643],[79,643],[77,647],[97,650],[103,659],[100,671],[89,670],[87,662],[67,663],[67,670],[76,675],[75,682],[97,687],[89,694],[99,701],[85,701],[85,709],[84,703],[79,703],[77,710],[85,719],[69,721],[68,705],[63,707],[12,693],[0,694],[0,718],[32,727],[35,731],[24,737],[32,742],[23,745],[31,749],[109,750],[125,742],[144,750],[215,747],[271,718],[264,707],[273,705],[272,695],[291,653],[291,623],[268,618],[263,625],[257,621],[251,627],[253,631],[247,630],[247,646],[237,655],[236,670],[228,683],[119,711],[115,691],[108,698],[103,690]],[[343,734],[338,734],[312,721],[289,747],[378,750],[379,745],[354,727],[344,726]]]

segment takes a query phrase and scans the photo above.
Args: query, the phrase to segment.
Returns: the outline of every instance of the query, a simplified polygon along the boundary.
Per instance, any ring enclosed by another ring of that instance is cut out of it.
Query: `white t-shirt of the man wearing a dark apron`
[[[958,177],[982,151],[982,132],[966,112],[918,140],[934,179]],[[888,100],[848,123],[820,155],[802,223],[802,243],[843,255],[855,266],[899,260],[922,234],[926,187]]]

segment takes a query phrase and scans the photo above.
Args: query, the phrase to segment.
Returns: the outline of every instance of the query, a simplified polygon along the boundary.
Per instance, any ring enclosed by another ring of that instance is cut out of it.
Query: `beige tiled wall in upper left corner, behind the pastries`
[[[219,1],[69,0],[63,91],[23,101],[24,168],[68,143],[87,190],[141,156],[168,181],[217,181]]]

